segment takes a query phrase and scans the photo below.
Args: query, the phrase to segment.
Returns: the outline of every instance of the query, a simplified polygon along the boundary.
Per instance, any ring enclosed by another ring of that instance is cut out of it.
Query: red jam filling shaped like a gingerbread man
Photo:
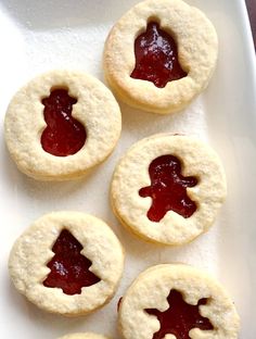
[[[179,159],[174,155],[158,156],[150,164],[149,173],[151,186],[141,188],[139,194],[152,198],[146,214],[150,221],[159,222],[168,211],[185,218],[196,211],[195,202],[187,194],[187,187],[194,187],[197,179],[182,176]]]

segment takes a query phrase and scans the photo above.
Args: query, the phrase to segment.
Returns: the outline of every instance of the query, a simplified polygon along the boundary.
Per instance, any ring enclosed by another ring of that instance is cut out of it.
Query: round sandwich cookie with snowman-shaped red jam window
[[[65,180],[101,163],[120,135],[112,92],[82,72],[52,71],[20,89],[5,115],[11,156],[26,175]]]

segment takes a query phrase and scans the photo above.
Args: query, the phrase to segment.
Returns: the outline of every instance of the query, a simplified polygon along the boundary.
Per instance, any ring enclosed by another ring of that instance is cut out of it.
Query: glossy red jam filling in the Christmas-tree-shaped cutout
[[[80,294],[82,287],[100,281],[100,278],[89,271],[91,261],[80,254],[82,246],[66,229],[63,229],[53,244],[55,255],[47,264],[51,269],[43,281],[46,287],[57,287],[64,293]]]

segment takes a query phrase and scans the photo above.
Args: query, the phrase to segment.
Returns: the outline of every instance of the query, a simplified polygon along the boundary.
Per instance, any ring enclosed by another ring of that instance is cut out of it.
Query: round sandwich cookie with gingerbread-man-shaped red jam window
[[[139,237],[179,246],[214,223],[227,193],[216,152],[195,137],[161,134],[135,143],[117,164],[113,211]]]

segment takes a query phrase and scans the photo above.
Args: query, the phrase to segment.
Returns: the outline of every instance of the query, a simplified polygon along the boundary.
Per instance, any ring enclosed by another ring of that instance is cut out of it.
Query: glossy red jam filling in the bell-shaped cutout
[[[179,64],[175,40],[157,23],[149,23],[146,30],[136,39],[135,54],[132,78],[152,81],[163,88],[168,81],[188,75]]]

